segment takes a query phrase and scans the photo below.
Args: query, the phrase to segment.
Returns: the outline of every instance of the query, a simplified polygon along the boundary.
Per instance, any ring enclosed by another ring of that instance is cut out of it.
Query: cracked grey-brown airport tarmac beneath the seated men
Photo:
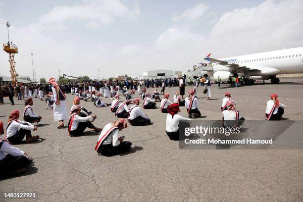
[[[199,108],[205,116],[202,119],[221,119],[221,99],[230,92],[237,110],[246,119],[264,120],[266,101],[275,93],[286,105],[284,118],[303,120],[302,80],[281,78],[277,85],[239,88],[223,84],[220,89],[214,84],[210,101],[205,101],[203,88],[199,87]],[[190,88],[187,86],[186,92]],[[170,100],[176,90],[165,89]],[[139,97],[137,92],[135,96]],[[67,94],[67,110],[73,98]],[[14,100],[15,106],[0,106],[3,123],[12,109],[23,112],[23,101]],[[97,115],[97,127],[115,119],[110,107],[96,108],[89,101],[81,101],[81,105]],[[16,146],[33,157],[35,163],[26,174],[0,181],[0,201],[24,201],[3,198],[3,193],[24,192],[36,193],[37,198],[28,201],[44,202],[303,201],[302,150],[180,150],[178,142],[170,141],[165,133],[166,114],[159,109],[146,109],[153,125],[129,124],[120,132],[133,143],[131,151],[105,157],[94,150],[98,134],[85,132],[81,137],[69,137],[67,129],[56,128],[52,111],[45,110],[45,106],[45,101],[34,99],[34,112],[43,119],[32,134],[40,135],[42,141]],[[184,107],[180,114],[187,115]]]

